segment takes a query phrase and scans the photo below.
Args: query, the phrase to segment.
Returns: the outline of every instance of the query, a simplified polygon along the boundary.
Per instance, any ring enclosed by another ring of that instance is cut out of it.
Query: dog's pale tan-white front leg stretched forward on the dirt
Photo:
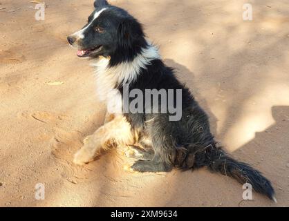
[[[78,165],[87,164],[95,160],[102,151],[119,144],[133,143],[131,125],[125,117],[118,115],[84,139],[84,146],[75,154],[73,162]]]

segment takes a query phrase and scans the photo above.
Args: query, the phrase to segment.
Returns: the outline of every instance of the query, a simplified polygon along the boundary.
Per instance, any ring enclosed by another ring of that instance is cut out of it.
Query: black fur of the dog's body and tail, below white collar
[[[209,170],[233,177],[241,184],[252,184],[255,191],[273,200],[274,189],[269,180],[248,164],[232,159],[217,145],[206,113],[189,90],[176,79],[173,69],[156,59],[130,84],[129,89],[133,88],[144,93],[145,89],[183,89],[183,117],[178,122],[169,121],[167,114],[126,115],[134,128],[141,128],[151,137],[155,151],[153,160],[140,160],[133,165],[133,169],[158,172],[170,171],[176,166],[186,171],[207,166]],[[152,122],[145,123],[153,118]]]

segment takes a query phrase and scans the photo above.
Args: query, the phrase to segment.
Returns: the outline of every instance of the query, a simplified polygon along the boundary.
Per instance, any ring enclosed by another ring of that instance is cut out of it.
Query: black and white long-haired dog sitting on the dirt
[[[118,144],[131,146],[138,160],[133,171],[161,172],[174,167],[183,170],[206,166],[211,171],[231,176],[241,184],[252,184],[255,191],[271,200],[274,189],[269,180],[248,164],[232,159],[217,145],[209,129],[206,113],[189,90],[180,84],[174,70],[165,66],[158,49],[145,38],[141,24],[121,8],[97,0],[95,10],[82,30],[68,37],[78,57],[89,57],[95,66],[100,99],[123,104],[124,85],[128,90],[181,90],[181,116],[169,120],[168,113],[152,113],[146,104],[139,113],[107,113],[105,124],[86,137],[75,154],[75,164],[95,160],[102,150]],[[133,102],[131,97],[129,103]],[[177,96],[173,95],[173,106]],[[161,102],[158,99],[158,102]],[[161,104],[158,104],[161,106]],[[169,104],[167,104],[169,105]],[[139,107],[138,107],[139,108]]]

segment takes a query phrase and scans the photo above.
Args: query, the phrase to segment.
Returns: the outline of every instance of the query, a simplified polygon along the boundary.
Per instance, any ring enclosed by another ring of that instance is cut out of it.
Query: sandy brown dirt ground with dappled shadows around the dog
[[[0,0],[0,206],[289,206],[289,2],[255,0],[253,20],[230,0],[111,1],[136,16],[165,63],[210,116],[234,157],[268,177],[278,203],[206,169],[130,173],[111,151],[84,167],[73,153],[104,121],[89,61],[66,36],[92,0]],[[35,185],[45,200],[35,200]]]

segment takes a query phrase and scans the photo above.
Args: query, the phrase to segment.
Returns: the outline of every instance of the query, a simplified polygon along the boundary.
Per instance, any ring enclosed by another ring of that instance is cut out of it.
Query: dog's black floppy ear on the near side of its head
[[[118,41],[122,48],[131,48],[133,44],[145,41],[142,25],[136,19],[125,19],[118,27]]]

